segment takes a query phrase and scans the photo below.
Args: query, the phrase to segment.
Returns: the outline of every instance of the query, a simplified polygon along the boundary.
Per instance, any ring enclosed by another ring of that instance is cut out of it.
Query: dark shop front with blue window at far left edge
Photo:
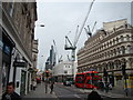
[[[6,30],[1,28],[2,31],[2,40],[0,40],[0,49],[2,51],[2,92],[6,91],[7,83],[9,82],[9,74],[11,68],[11,56],[12,49],[14,47],[14,42],[8,36]]]

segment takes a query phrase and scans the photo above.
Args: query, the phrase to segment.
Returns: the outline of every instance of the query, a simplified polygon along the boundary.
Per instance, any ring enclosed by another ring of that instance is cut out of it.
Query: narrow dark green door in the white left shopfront
[[[27,72],[21,71],[21,89],[20,89],[20,94],[24,96],[25,94],[25,80],[27,80]]]

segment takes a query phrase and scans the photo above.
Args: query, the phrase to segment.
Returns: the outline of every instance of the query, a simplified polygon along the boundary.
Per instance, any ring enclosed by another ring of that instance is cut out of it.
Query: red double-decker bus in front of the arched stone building
[[[75,76],[75,87],[78,88],[99,88],[100,76],[98,74],[98,71],[88,71],[83,73],[78,73]]]

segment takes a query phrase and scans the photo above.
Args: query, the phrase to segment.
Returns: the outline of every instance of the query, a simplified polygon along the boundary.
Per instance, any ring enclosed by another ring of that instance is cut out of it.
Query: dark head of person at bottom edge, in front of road
[[[92,92],[88,94],[88,100],[103,100],[103,99],[96,92],[96,90],[92,90]]]

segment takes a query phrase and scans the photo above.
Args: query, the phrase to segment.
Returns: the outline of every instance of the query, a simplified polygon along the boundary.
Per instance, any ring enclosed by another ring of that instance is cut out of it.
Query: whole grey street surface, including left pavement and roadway
[[[49,84],[50,86],[50,84]],[[41,82],[38,84],[37,89],[23,97],[23,100],[29,99],[50,99],[50,100],[88,100],[88,94],[92,89],[80,89],[72,86],[64,86],[62,83],[55,83],[53,92],[50,93],[48,86],[48,92],[45,93],[45,83]],[[105,93],[100,90],[96,90],[103,100],[132,100],[132,98],[123,97],[123,94]]]

